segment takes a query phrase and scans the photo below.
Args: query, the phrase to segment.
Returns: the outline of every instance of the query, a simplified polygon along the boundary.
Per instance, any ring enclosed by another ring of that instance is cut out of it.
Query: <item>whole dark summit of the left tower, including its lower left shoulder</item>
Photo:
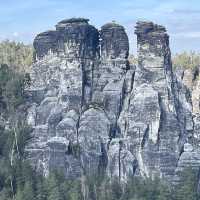
[[[95,59],[99,54],[99,33],[88,21],[82,18],[63,20],[56,25],[55,31],[37,35],[34,40],[36,58],[41,59],[52,52],[71,59]]]

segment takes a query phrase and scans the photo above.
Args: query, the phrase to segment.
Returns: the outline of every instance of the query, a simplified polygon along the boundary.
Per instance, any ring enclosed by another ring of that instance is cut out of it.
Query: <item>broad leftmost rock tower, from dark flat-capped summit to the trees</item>
[[[76,176],[81,171],[77,127],[92,98],[93,67],[99,58],[99,32],[88,21],[63,20],[34,40],[27,119],[35,139],[27,149],[44,173],[62,168],[66,176]]]

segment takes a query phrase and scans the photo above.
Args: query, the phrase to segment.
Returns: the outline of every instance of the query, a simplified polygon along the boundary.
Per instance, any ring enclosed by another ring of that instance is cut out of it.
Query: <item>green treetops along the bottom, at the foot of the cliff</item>
[[[96,177],[68,180],[54,172],[44,178],[26,163],[16,170],[14,199],[16,200],[199,200],[194,172],[185,171],[184,181],[169,186],[160,179],[132,178],[126,184],[118,179],[102,181]],[[195,187],[194,187],[195,186]],[[12,190],[7,184],[0,192],[0,200],[11,199]]]

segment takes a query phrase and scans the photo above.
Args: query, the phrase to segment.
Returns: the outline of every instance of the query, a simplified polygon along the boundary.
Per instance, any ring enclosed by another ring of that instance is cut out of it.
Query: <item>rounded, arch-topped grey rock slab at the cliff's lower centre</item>
[[[111,123],[105,112],[90,108],[80,117],[78,138],[81,147],[81,161],[87,174],[95,174],[107,167],[107,143]]]

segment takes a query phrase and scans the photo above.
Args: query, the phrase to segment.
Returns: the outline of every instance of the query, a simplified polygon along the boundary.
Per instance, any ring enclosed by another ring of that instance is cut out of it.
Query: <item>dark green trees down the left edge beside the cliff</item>
[[[24,161],[24,150],[30,139],[30,127],[22,113],[17,112],[24,102],[24,88],[28,82],[27,75],[0,65],[0,199],[14,196],[18,180],[29,168]]]

